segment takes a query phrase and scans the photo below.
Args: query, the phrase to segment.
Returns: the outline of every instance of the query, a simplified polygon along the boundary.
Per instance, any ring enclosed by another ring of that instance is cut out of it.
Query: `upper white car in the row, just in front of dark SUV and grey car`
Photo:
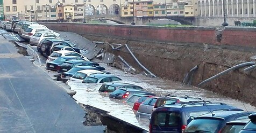
[[[59,51],[54,51],[52,52],[49,56],[48,59],[46,60],[46,63],[49,61],[53,61],[57,59],[58,57],[63,57],[63,56],[76,56],[76,57],[81,57],[86,61],[89,61],[87,57],[82,56],[82,54],[74,52],[74,51],[69,51],[69,50],[59,50]]]

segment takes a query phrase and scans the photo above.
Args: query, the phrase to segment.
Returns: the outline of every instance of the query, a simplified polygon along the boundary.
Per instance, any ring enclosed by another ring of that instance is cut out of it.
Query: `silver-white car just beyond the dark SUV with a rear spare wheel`
[[[30,45],[38,45],[44,38],[47,37],[54,37],[56,38],[53,33],[50,33],[48,31],[42,31],[42,32],[36,32],[31,38],[30,38]],[[72,49],[72,48],[70,48]]]

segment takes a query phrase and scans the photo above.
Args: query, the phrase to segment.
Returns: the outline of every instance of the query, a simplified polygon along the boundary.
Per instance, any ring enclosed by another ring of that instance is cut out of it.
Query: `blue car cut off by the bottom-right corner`
[[[245,125],[245,127],[239,133],[255,133],[256,132],[256,113],[250,114],[248,116],[250,121]]]

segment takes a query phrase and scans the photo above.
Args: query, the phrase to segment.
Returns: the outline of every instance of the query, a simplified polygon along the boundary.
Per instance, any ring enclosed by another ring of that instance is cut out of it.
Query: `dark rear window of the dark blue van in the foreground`
[[[152,115],[152,126],[178,127],[181,121],[179,112],[157,112]]]

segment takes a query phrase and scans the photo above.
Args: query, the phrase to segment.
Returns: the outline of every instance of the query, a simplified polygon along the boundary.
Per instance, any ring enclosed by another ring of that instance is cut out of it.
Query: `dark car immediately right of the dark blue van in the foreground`
[[[190,132],[212,132],[218,133],[221,132],[222,128],[225,126],[226,122],[246,119],[248,115],[253,112],[246,111],[221,111],[215,113],[208,113],[197,118],[194,118],[186,129],[184,133]]]

